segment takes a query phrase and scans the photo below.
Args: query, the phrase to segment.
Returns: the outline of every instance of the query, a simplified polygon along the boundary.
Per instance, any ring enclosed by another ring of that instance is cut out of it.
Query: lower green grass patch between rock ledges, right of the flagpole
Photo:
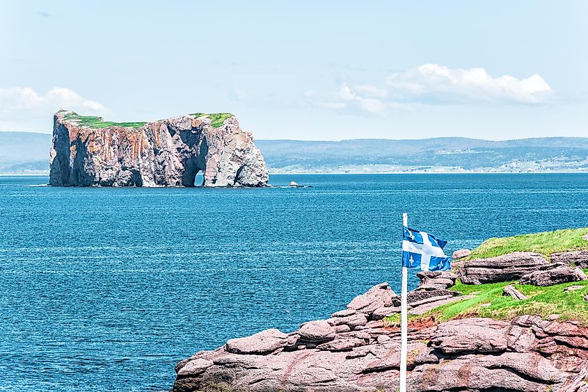
[[[527,295],[526,300],[516,301],[514,298],[502,295],[504,286],[508,284]],[[579,290],[564,292],[569,286],[583,286]],[[574,281],[563,284],[555,284],[548,287],[522,285],[511,282],[489,284],[456,284],[450,288],[452,291],[460,291],[461,295],[473,295],[474,297],[445,304],[419,316],[408,315],[409,322],[434,319],[436,322],[444,322],[456,318],[488,317],[495,320],[511,320],[524,314],[536,315],[546,318],[551,314],[559,315],[558,320],[578,320],[582,325],[588,325],[588,301],[584,296],[588,294],[588,281]],[[389,325],[399,325],[398,313],[385,319]]]

